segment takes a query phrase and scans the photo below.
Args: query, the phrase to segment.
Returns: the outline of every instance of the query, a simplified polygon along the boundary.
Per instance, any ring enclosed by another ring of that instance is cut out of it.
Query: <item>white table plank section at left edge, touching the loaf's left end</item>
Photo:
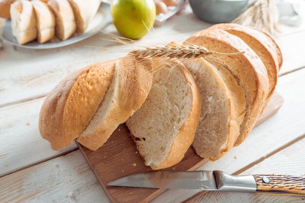
[[[49,142],[40,137],[38,115],[43,100],[0,109],[0,177],[77,148],[73,142],[67,148],[54,151]]]

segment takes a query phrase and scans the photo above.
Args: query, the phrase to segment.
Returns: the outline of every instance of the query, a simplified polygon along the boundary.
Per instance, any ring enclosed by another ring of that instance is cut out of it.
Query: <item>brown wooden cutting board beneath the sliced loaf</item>
[[[283,102],[283,97],[275,92],[255,126],[278,111]],[[147,203],[166,189],[107,186],[107,183],[118,178],[152,170],[149,166],[144,165],[129,133],[125,124],[120,125],[108,141],[96,151],[91,151],[76,143],[112,202]],[[195,170],[207,161],[199,157],[190,147],[180,163],[166,168],[166,170]]]

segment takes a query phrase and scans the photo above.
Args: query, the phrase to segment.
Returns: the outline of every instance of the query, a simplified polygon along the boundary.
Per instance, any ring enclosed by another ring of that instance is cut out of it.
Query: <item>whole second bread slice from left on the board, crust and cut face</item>
[[[152,66],[132,57],[119,59],[115,74],[94,117],[77,141],[91,150],[100,148],[119,124],[138,110],[152,86]],[[132,68],[131,68],[132,67]]]

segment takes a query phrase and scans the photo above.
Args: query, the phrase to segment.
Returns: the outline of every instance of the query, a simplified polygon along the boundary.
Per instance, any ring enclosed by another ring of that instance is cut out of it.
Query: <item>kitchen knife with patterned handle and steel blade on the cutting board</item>
[[[117,179],[108,185],[305,196],[305,177],[275,174],[233,176],[219,170],[137,173]]]

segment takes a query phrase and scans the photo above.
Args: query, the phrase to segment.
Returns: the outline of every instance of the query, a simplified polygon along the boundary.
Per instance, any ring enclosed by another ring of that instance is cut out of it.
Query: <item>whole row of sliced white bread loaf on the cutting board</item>
[[[239,54],[191,57],[193,45]],[[152,169],[177,164],[190,146],[200,157],[218,160],[254,127],[283,57],[266,33],[235,24],[212,26],[176,47],[182,46],[185,52],[176,58],[128,55],[69,75],[41,108],[41,136],[56,150],[74,139],[96,150],[126,122]]]

